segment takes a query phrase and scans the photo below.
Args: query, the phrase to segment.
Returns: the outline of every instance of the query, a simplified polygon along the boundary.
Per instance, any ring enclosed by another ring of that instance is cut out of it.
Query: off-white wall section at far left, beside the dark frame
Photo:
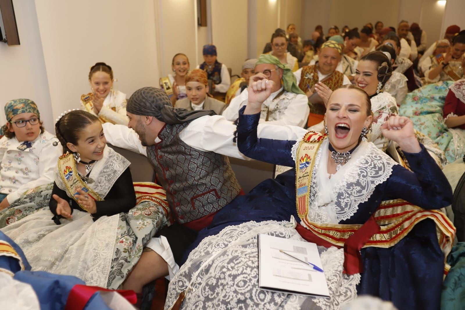
[[[3,108],[7,101],[28,98],[37,103],[44,127],[54,133],[54,118],[35,6],[33,2],[15,0],[13,7],[20,45],[9,47],[0,43],[0,124],[6,122]]]

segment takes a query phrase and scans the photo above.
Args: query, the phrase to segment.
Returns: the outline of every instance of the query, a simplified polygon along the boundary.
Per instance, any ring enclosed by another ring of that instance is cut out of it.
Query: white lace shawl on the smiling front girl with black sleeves
[[[89,187],[99,194],[102,199],[105,198],[113,184],[130,164],[126,158],[116,153],[113,148],[106,146],[103,150],[103,158],[95,162],[89,174],[89,178],[94,180],[92,184],[88,184]],[[55,183],[71,197],[58,169],[55,171]]]

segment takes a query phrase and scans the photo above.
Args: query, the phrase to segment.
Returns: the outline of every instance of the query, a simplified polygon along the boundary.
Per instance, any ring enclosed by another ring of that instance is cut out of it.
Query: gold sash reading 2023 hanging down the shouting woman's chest
[[[296,151],[296,204],[300,218],[305,218],[310,205],[310,184],[312,183],[312,171],[318,149],[326,138],[326,134],[309,131],[304,135]]]

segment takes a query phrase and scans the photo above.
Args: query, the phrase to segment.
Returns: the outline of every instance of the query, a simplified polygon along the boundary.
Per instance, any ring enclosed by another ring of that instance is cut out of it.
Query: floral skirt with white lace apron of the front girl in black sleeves
[[[52,185],[32,189],[0,212],[7,236],[24,251],[32,270],[77,276],[87,285],[117,289],[155,233],[169,223],[162,189],[127,213],[97,221],[77,209],[72,219],[52,221]]]

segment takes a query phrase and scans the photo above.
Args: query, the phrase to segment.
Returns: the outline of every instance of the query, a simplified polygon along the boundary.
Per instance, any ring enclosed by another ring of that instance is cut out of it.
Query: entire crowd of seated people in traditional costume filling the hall
[[[97,62],[54,135],[33,100],[8,101],[0,239],[32,270],[133,290],[139,307],[166,277],[173,309],[341,309],[359,295],[459,309],[465,284],[443,279],[460,278],[448,257],[465,246],[445,208],[464,182],[443,169],[465,165],[465,33],[427,47],[415,22],[349,26],[278,28],[235,80],[215,45],[194,69],[179,51],[129,98]],[[155,183],[107,142],[146,156]],[[291,170],[244,193],[229,157]],[[259,289],[259,232],[317,243],[330,298]]]

